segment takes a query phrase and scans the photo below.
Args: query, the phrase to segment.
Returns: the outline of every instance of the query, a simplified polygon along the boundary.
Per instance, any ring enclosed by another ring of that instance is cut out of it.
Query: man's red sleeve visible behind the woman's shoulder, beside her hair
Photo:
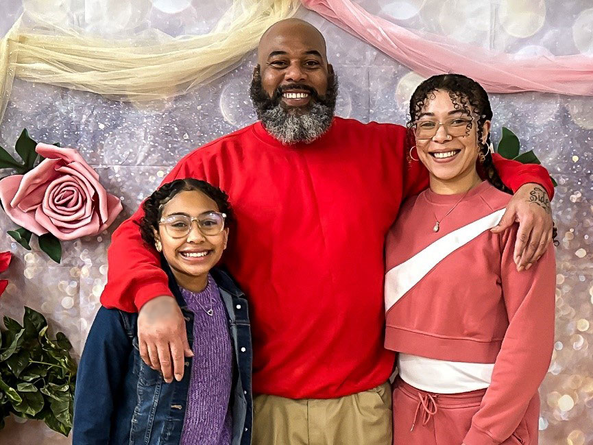
[[[518,191],[524,184],[535,182],[546,189],[550,200],[554,197],[554,184],[552,184],[550,174],[541,165],[522,164],[517,160],[503,158],[498,153],[492,155],[492,160],[496,171],[498,171],[498,176],[513,192]]]

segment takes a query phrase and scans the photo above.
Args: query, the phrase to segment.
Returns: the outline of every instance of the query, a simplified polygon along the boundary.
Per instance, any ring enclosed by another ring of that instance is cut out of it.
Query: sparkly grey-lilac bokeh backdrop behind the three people
[[[0,36],[23,11],[88,36],[131,42],[147,32],[160,39],[210,32],[232,0],[3,0]],[[362,0],[365,10],[413,32],[472,43],[476,51],[593,58],[591,0]],[[337,114],[361,121],[404,123],[422,77],[315,12],[296,16],[319,27],[340,81]],[[430,57],[429,54],[426,57]],[[102,95],[15,79],[0,123],[0,145],[14,152],[23,128],[36,141],[75,147],[99,173],[124,211],[97,237],[64,241],[62,263],[33,243],[31,252],[6,230],[0,211],[0,252],[14,254],[3,273],[10,284],[0,314],[20,320],[23,306],[42,312],[71,339],[80,356],[106,282],[110,234],[136,210],[176,162],[195,147],[256,120],[248,97],[255,63],[250,51],[233,68],[182,95],[124,102]],[[463,72],[463,67],[456,71]],[[557,180],[553,200],[559,231],[557,318],[553,359],[540,395],[540,444],[593,444],[593,97],[549,93],[492,94],[493,140],[501,128],[518,134]],[[495,142],[496,143],[496,142]],[[365,147],[361,147],[364,156]],[[331,168],[331,166],[328,166]],[[6,171],[4,172],[6,173]],[[41,422],[7,419],[0,442],[70,444]]]

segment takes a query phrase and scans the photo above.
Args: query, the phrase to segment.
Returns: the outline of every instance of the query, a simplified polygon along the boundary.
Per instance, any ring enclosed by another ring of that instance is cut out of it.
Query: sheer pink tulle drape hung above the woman
[[[461,73],[492,93],[542,91],[593,96],[593,57],[513,58],[435,34],[415,34],[370,14],[351,0],[302,0],[325,19],[425,77]]]

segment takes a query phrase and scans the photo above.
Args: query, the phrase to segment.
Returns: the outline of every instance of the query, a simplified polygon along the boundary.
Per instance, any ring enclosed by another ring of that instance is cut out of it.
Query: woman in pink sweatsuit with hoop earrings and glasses
[[[553,245],[518,271],[517,227],[490,230],[511,195],[492,165],[492,109],[479,84],[431,77],[410,115],[410,162],[426,166],[430,189],[403,204],[387,236],[394,444],[537,444],[537,387],[554,341]],[[531,198],[549,209],[543,189]]]

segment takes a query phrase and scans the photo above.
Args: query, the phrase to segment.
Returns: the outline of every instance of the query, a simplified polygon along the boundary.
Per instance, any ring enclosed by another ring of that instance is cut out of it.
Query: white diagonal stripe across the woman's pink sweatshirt
[[[505,209],[501,208],[499,211],[453,230],[400,265],[389,269],[385,274],[385,312],[389,311],[391,306],[396,304],[446,256],[469,243],[485,230],[496,226],[504,213]]]

